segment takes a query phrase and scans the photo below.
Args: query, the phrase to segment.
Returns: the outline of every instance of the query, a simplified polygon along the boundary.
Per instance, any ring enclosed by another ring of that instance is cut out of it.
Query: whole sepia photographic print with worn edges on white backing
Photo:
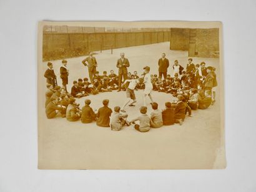
[[[39,22],[39,169],[225,168],[221,22]]]

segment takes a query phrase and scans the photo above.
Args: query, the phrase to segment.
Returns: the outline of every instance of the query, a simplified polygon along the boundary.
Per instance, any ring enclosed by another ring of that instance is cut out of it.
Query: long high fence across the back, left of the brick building
[[[101,46],[113,49],[141,46],[170,41],[169,31],[150,32],[44,32],[42,37],[43,60],[63,59],[86,55],[101,50]],[[105,47],[102,49],[111,49]]]

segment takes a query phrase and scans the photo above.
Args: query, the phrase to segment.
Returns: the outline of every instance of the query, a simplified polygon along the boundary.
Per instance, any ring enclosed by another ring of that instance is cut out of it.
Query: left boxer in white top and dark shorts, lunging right
[[[137,79],[134,79],[134,75],[131,75],[130,76],[130,78],[131,79],[126,79],[125,81],[124,81],[124,84],[126,84],[127,82],[129,82],[129,86],[127,87],[127,89],[126,89],[126,97],[127,97],[127,99],[126,99],[126,102],[124,103],[124,105],[122,106],[122,109],[121,109],[121,112],[126,112],[125,110],[124,110],[124,107],[126,107],[126,105],[129,103],[129,102],[131,102],[130,104],[129,104],[129,107],[134,107],[135,105],[134,105],[134,103],[135,102],[137,102],[136,101],[136,97],[135,97],[135,93],[134,93],[134,89],[135,89],[135,87],[136,87],[136,85],[137,85],[137,83],[139,82]]]

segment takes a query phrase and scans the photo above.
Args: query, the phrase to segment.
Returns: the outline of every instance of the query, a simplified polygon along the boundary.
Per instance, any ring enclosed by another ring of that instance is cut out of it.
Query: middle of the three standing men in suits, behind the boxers
[[[130,67],[129,60],[124,57],[124,52],[121,52],[120,56],[121,58],[117,60],[116,64],[116,67],[119,69],[119,84],[117,92],[121,91],[122,77],[124,77],[124,80],[127,79],[127,67]]]

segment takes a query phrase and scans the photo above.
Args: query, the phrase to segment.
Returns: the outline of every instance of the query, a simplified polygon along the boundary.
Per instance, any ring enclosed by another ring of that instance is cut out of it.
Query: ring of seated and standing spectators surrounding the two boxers
[[[195,65],[192,63],[192,59],[188,59],[187,67],[184,69],[178,60],[175,60],[172,66],[174,73],[170,75],[167,74],[169,60],[165,58],[165,54],[162,54],[162,58],[159,59],[159,75],[150,75],[153,90],[172,94],[177,98],[175,101],[166,102],[164,110],[159,110],[157,102],[151,102],[153,112],[150,116],[147,115],[147,107],[144,105],[140,107],[139,117],[128,121],[128,114],[124,111],[124,108],[116,106],[114,112],[112,112],[112,109],[108,107],[108,99],[102,101],[103,107],[98,110],[92,110],[92,107],[90,107],[91,100],[89,99],[86,99],[84,106],[79,108],[76,98],[99,94],[99,92],[127,90],[129,89],[129,79],[137,79],[134,90],[145,89],[143,75],[139,77],[137,71],[133,73],[127,71],[129,60],[124,58],[123,53],[121,53],[121,59],[117,60],[118,75],[114,73],[114,70],[111,70],[110,74],[104,71],[100,75],[96,70],[96,59],[92,55],[84,59],[82,64],[88,65],[89,62],[94,63],[91,65],[91,69],[88,67],[89,79],[74,80],[70,93],[66,87],[69,75],[69,70],[66,67],[67,60],[62,60],[62,66],[60,67],[62,87],[57,86],[52,63],[48,62],[48,69],[44,74],[47,79],[45,103],[47,118],[54,118],[57,113],[61,113],[62,117],[66,117],[71,122],[79,119],[82,123],[96,121],[98,126],[111,127],[111,130],[121,130],[125,125],[129,127],[130,124],[134,124],[135,130],[148,132],[150,127],[159,128],[162,125],[172,125],[174,123],[182,125],[187,113],[191,117],[192,110],[205,109],[215,103],[217,79],[214,67],[205,67],[205,62]]]

